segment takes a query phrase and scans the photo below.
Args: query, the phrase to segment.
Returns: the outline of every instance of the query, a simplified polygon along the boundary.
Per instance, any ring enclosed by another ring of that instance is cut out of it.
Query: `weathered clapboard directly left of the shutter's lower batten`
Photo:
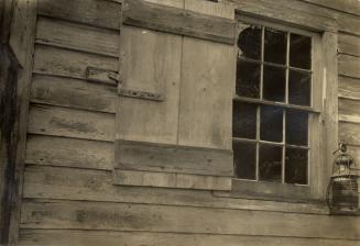
[[[25,163],[111,170],[113,168],[113,152],[112,143],[30,134]],[[56,186],[62,188],[66,186],[66,182],[64,180],[63,185],[57,183]]]

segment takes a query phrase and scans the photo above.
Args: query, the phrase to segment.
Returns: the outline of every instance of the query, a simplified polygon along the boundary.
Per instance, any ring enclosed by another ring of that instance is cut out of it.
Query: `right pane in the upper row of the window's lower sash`
[[[296,110],[286,111],[286,144],[307,146],[308,114]]]

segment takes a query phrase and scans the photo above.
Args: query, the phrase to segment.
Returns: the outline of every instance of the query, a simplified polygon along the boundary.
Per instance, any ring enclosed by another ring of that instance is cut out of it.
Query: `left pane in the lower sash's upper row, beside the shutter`
[[[233,102],[232,136],[250,139],[257,138],[257,105]]]

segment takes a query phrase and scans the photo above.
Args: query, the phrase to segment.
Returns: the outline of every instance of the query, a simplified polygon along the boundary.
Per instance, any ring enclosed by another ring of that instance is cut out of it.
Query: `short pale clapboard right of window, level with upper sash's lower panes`
[[[360,79],[339,76],[339,97],[360,100]]]

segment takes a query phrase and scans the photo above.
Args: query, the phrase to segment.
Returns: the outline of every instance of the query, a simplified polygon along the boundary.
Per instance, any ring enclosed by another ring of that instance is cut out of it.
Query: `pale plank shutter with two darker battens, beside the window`
[[[114,181],[227,190],[233,10],[208,1],[122,8]]]

